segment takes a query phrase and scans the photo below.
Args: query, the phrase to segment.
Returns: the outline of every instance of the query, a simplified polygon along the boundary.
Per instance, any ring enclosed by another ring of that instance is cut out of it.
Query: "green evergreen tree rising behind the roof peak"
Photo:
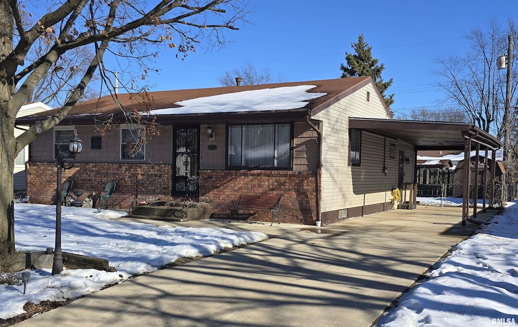
[[[351,48],[353,48],[355,53],[346,51],[347,65],[340,64],[340,69],[343,72],[341,78],[372,77],[385,100],[385,104],[390,109],[390,106],[394,103],[394,94],[385,96],[384,93],[391,86],[393,79],[391,78],[389,81],[384,82],[383,78],[381,78],[381,72],[385,69],[385,65],[383,63],[378,65],[379,60],[372,58],[372,47],[365,42],[363,34],[358,35],[358,42],[353,42]]]

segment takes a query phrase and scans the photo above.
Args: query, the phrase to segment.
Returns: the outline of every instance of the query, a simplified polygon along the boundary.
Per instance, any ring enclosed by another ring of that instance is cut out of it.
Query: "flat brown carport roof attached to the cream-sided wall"
[[[468,123],[349,118],[349,128],[398,138],[416,150],[464,150],[467,138],[471,138],[473,148],[476,143],[493,150],[502,147],[496,137]]]

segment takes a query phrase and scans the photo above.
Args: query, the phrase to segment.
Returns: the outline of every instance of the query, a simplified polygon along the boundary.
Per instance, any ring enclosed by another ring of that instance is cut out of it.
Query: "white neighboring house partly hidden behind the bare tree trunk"
[[[23,105],[20,108],[20,111],[18,111],[18,115],[16,115],[17,118],[23,117],[23,116],[30,116],[34,115],[35,113],[46,111],[52,109],[48,105],[42,103],[42,102],[33,102],[28,103],[26,105]],[[21,128],[27,128],[27,126]],[[21,135],[23,133],[23,130],[15,129],[15,136]],[[25,186],[25,161],[28,159],[29,154],[29,147],[26,146],[15,159],[15,184],[14,184],[14,191],[16,197],[22,197],[25,194],[26,186]]]

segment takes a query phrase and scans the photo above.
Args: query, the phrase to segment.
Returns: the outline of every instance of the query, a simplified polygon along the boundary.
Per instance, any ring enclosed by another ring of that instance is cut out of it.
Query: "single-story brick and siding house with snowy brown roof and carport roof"
[[[83,150],[63,173],[83,196],[95,197],[117,183],[117,207],[138,200],[210,202],[228,216],[239,194],[283,195],[285,223],[322,224],[388,210],[392,192],[415,182],[416,151],[464,149],[497,139],[469,124],[390,119],[370,77],[256,86],[149,92],[150,100],[118,94],[121,105],[159,124],[139,151],[136,131],[111,96],[78,103],[53,130],[36,139],[29,163],[31,202],[55,200],[55,154],[66,152],[77,130]],[[145,112],[145,110],[150,110]],[[57,109],[56,109],[57,110]],[[19,119],[34,124],[49,113]],[[112,133],[96,127],[111,119]],[[466,142],[469,141],[469,144]],[[199,176],[199,188],[188,182]],[[251,212],[268,221],[269,212]]]

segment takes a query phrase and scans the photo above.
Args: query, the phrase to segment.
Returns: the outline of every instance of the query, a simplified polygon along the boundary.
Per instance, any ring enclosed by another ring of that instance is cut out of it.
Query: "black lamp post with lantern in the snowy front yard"
[[[56,188],[56,243],[54,246],[54,261],[52,262],[52,275],[63,271],[63,252],[61,251],[61,172],[74,167],[77,156],[82,149],[81,140],[77,137],[77,130],[74,131],[74,139],[70,140],[68,149],[73,158],[63,158],[61,151],[57,152],[57,188]]]

